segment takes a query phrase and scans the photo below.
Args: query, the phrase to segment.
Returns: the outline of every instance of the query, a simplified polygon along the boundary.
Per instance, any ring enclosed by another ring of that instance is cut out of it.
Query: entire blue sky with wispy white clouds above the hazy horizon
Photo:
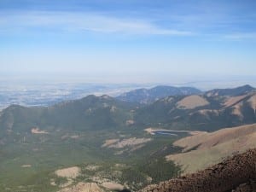
[[[0,0],[0,73],[256,76],[254,0]]]

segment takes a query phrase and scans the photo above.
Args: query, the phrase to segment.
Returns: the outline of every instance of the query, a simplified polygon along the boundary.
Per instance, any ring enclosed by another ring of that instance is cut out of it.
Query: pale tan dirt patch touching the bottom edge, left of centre
[[[78,183],[72,187],[61,189],[59,192],[104,192],[96,183]]]

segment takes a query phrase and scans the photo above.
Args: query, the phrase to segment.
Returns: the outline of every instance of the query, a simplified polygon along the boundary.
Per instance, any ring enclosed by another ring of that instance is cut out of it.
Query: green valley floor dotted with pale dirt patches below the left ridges
[[[119,142],[105,145],[106,139],[113,138]],[[172,149],[174,140],[153,138],[143,131],[51,131],[26,134],[12,141],[5,140],[1,145],[1,191],[64,191],[79,182],[97,183],[101,188],[106,183],[118,183],[135,190],[151,183],[149,177],[158,182],[158,179],[176,176],[179,170],[172,162],[166,162],[163,169],[157,171],[154,160],[164,160],[169,150],[177,150]],[[158,151],[160,155],[152,154]],[[148,162],[152,162],[151,170]],[[79,167],[75,168],[79,174],[72,171],[65,171],[67,177],[64,171],[55,174],[74,166]],[[155,177],[158,172],[166,176]]]

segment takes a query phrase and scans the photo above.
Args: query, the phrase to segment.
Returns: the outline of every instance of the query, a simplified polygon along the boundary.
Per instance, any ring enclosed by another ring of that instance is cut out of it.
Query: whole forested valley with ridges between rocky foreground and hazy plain
[[[255,147],[254,91],[11,105],[0,113],[0,190],[136,191],[204,169]]]

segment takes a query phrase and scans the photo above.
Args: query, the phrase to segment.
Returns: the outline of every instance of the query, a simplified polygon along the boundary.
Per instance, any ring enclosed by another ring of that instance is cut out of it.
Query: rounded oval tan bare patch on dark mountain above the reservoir
[[[209,102],[201,96],[186,96],[177,102],[177,108],[192,109],[208,105]]]

